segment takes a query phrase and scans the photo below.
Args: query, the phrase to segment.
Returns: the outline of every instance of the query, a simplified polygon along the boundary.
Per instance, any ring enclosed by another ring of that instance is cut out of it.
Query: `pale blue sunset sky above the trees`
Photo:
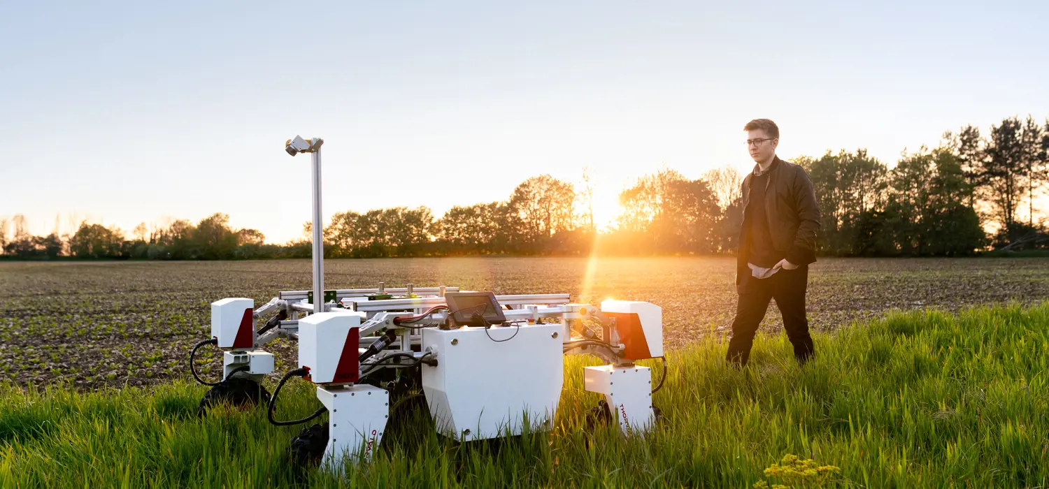
[[[271,242],[323,213],[579,183],[599,222],[670,168],[865,148],[1049,117],[1045,1],[0,2],[0,218],[198,221]]]

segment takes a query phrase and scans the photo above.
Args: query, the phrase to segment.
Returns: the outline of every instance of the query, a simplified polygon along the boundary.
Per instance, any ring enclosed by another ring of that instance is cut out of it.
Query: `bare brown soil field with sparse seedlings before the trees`
[[[728,257],[329,260],[325,288],[410,282],[569,292],[578,302],[648,301],[663,307],[672,349],[729,331],[734,263]],[[90,390],[185,377],[190,347],[210,334],[210,303],[252,297],[261,305],[278,291],[308,289],[309,270],[308,261],[0,263],[0,379]],[[832,331],[892,309],[957,311],[1046,298],[1049,259],[822,259],[810,269],[809,319]],[[763,331],[779,326],[773,304]],[[270,350],[278,353],[276,372],[295,361],[294,347],[282,340]]]

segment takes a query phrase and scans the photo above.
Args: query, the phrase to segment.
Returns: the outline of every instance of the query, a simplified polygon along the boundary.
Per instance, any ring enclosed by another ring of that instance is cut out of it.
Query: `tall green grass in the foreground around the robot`
[[[743,371],[715,337],[671,353],[656,395],[665,420],[644,438],[585,432],[597,396],[582,391],[588,359],[572,357],[553,432],[456,445],[424,416],[388,428],[376,459],[343,477],[294,468],[298,428],[271,426],[261,409],[197,418],[195,384],[8,385],[0,487],[745,488],[787,453],[840,467],[844,487],[1049,481],[1049,303],[897,313],[819,335],[816,348],[799,368],[784,336],[759,337]],[[282,417],[317,406],[301,381],[281,401]]]

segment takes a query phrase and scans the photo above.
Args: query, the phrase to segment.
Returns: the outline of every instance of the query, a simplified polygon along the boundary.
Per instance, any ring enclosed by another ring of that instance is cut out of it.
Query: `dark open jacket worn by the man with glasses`
[[[765,216],[769,222],[772,245],[794,265],[808,265],[816,261],[816,231],[819,230],[819,205],[812,190],[812,180],[797,164],[775,159],[766,180]],[[757,166],[755,165],[755,170]],[[753,172],[743,179],[743,208],[750,203],[750,182]],[[751,277],[747,266],[748,222],[744,219],[740,231],[740,253],[736,259],[735,285],[740,293],[746,291]]]

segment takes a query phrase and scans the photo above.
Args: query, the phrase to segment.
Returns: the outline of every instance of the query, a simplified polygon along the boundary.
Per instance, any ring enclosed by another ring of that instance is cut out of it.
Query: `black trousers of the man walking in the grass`
[[[754,333],[765,318],[769,301],[774,298],[783,314],[787,337],[794,346],[794,357],[805,363],[814,353],[812,336],[809,335],[809,319],[805,316],[805,289],[809,285],[809,267],[780,269],[768,279],[746,276],[744,280],[747,283],[740,293],[735,320],[732,321],[732,339],[728,342],[726,356],[728,361],[747,364]]]

